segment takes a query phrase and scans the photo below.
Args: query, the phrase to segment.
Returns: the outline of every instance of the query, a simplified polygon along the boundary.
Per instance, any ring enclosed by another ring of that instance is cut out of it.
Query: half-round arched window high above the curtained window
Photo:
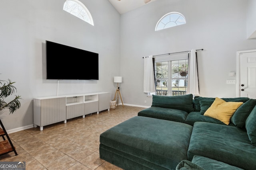
[[[185,24],[185,17],[178,12],[170,12],[157,22],[155,31]]]

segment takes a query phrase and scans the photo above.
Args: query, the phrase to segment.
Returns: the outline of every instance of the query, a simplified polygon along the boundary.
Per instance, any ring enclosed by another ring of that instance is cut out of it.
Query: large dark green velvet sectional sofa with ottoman
[[[218,101],[224,105],[192,94],[153,95],[150,108],[100,135],[100,158],[126,170],[255,170],[256,100]],[[217,105],[228,110],[228,123],[206,116]]]

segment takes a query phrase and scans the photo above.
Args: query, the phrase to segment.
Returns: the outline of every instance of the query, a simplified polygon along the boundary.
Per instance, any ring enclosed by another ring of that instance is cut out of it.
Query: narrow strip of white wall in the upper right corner
[[[256,38],[256,0],[247,0],[247,37]]]

